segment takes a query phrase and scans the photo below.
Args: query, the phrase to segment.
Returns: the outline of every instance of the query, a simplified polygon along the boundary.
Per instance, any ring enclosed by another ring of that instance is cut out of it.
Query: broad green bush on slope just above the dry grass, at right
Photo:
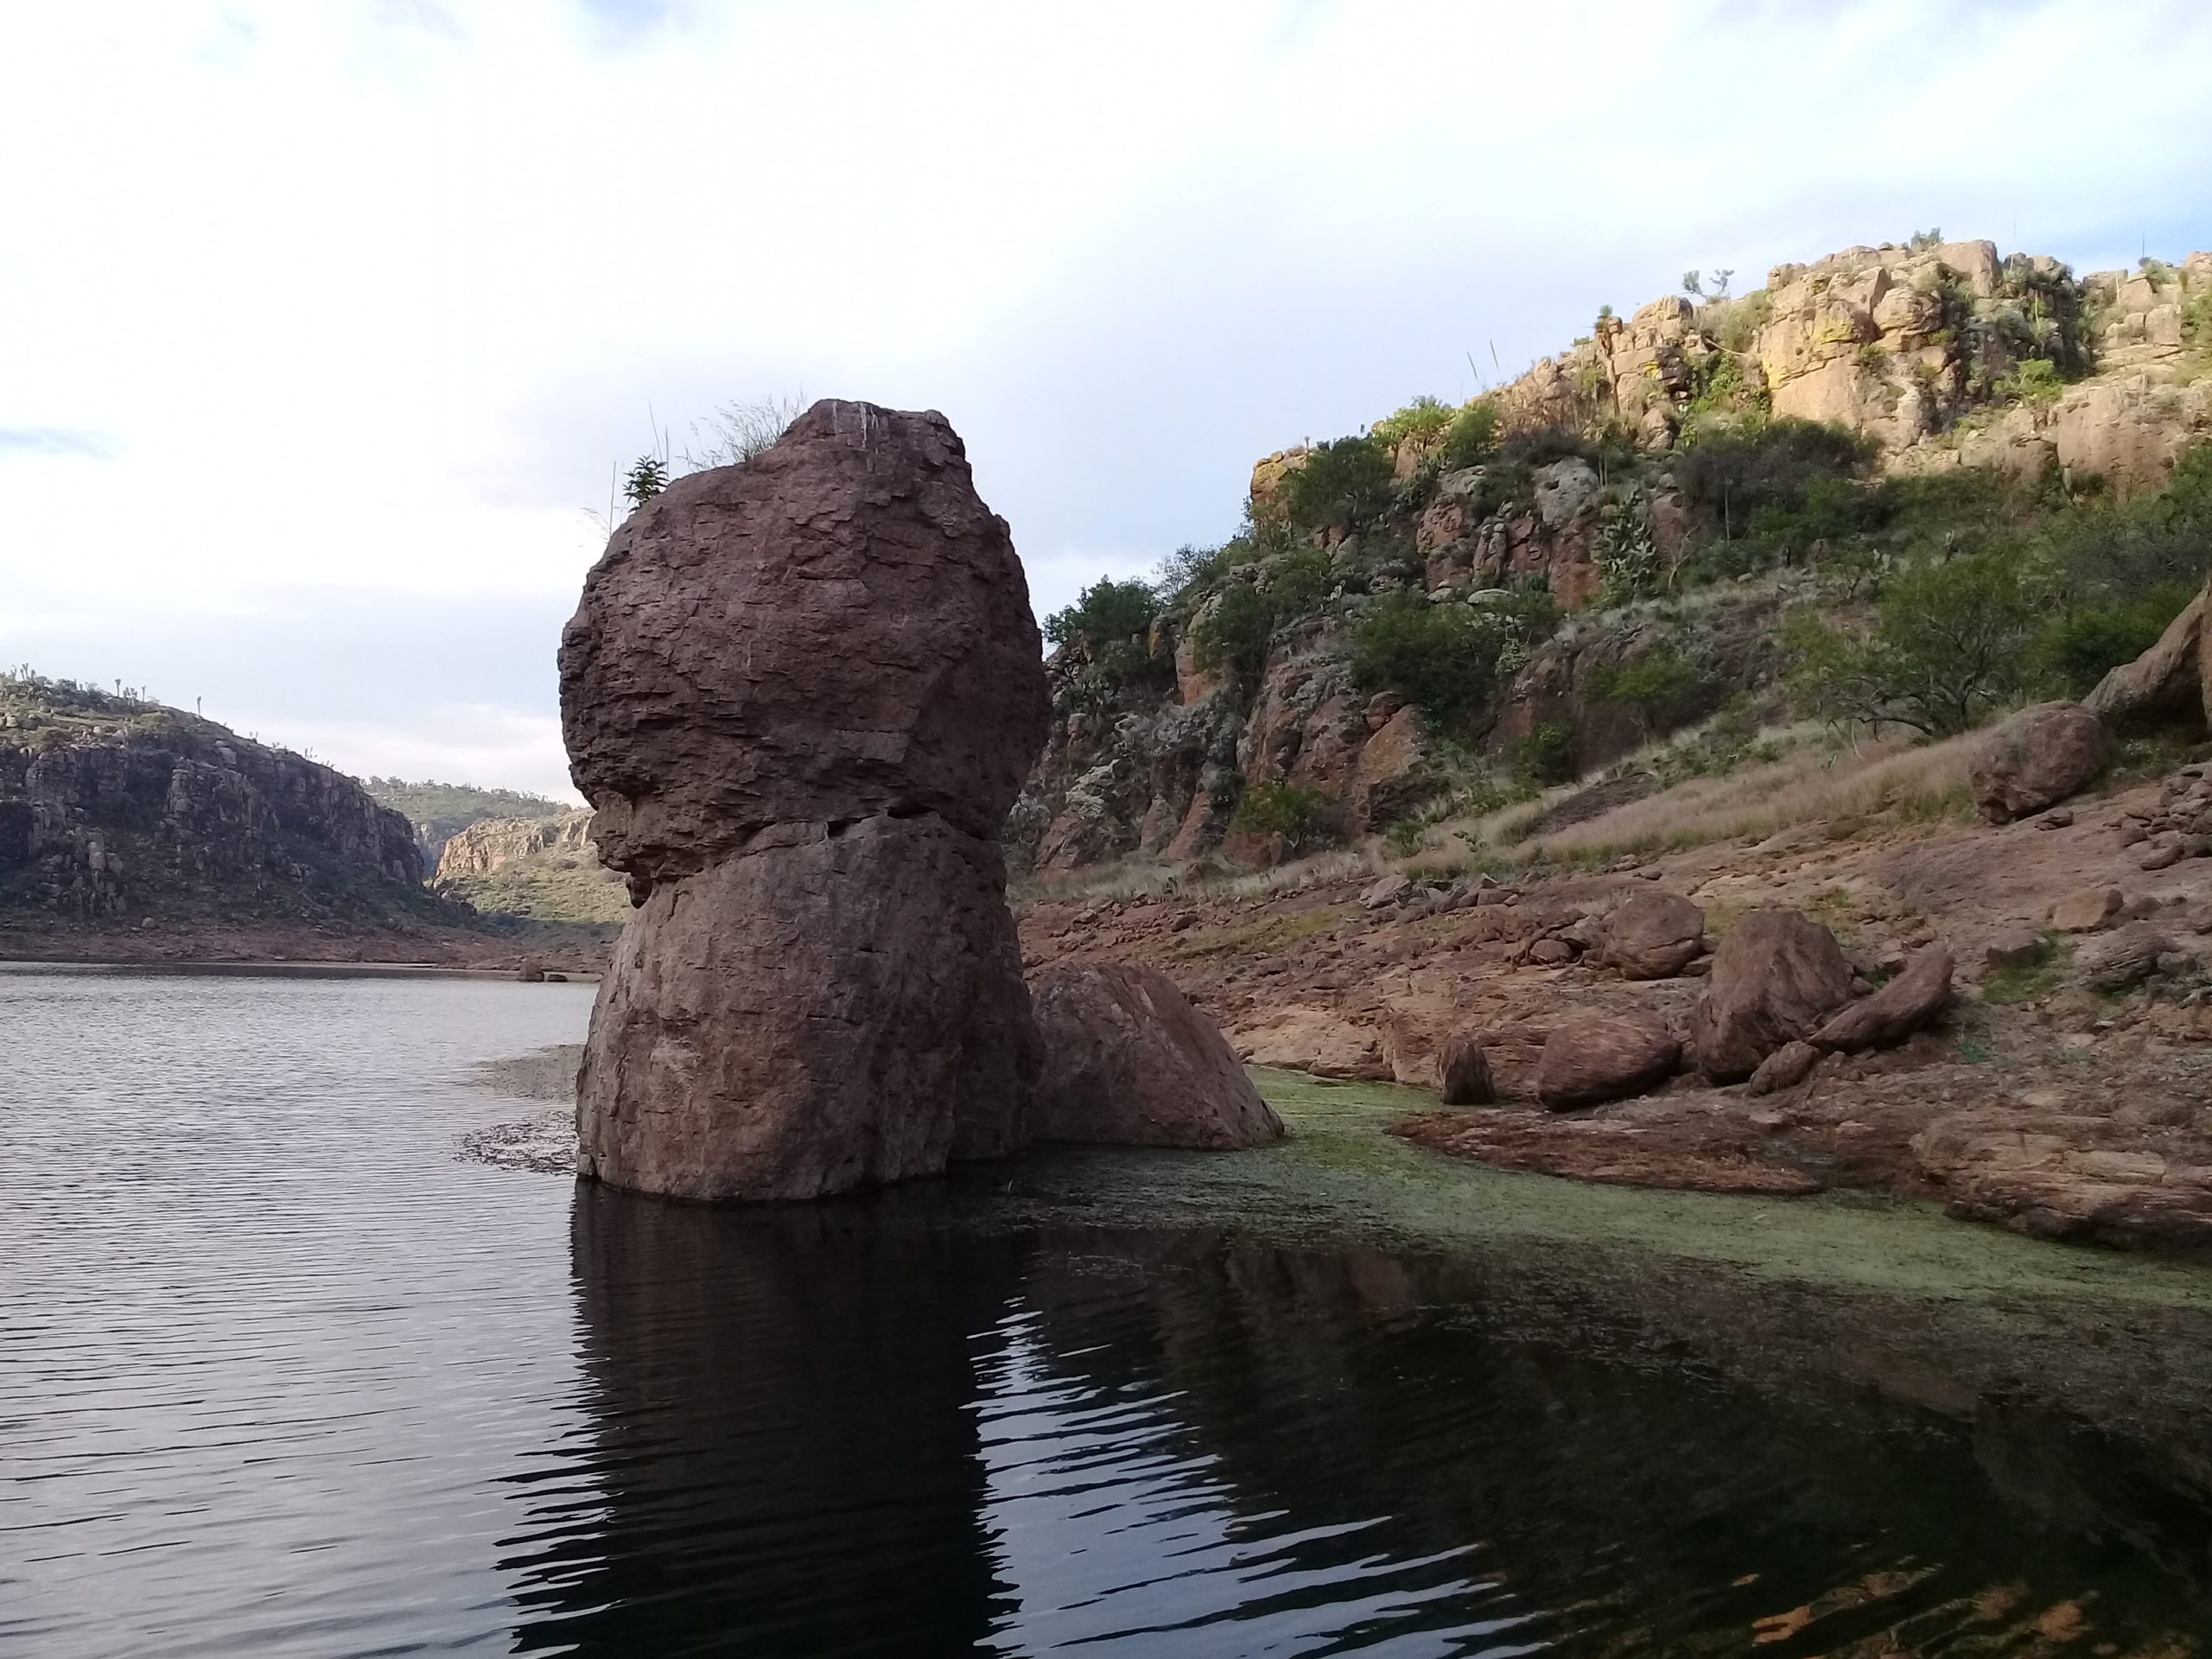
[[[1887,586],[1869,639],[1794,611],[1783,622],[1790,686],[1827,719],[1953,737],[2033,681],[2039,615],[2042,595],[2002,555],[1920,564]]]

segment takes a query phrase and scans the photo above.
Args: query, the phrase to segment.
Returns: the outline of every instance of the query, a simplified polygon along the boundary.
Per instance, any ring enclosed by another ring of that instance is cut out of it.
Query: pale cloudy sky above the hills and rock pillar
[[[1250,467],[1913,230],[2212,248],[2203,0],[0,9],[0,666],[568,796],[613,473],[942,409],[1042,611]]]

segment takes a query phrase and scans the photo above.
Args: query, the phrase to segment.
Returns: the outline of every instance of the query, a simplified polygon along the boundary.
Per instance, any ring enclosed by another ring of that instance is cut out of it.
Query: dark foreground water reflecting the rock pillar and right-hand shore
[[[2148,1655],[2212,1628],[2185,1453],[1807,1371],[1750,1287],[1668,1338],[1473,1261],[973,1221],[942,1190],[582,1190],[593,1489],[529,1500],[553,1542],[509,1562],[518,1650]],[[1730,1312],[1723,1371],[1683,1332]]]

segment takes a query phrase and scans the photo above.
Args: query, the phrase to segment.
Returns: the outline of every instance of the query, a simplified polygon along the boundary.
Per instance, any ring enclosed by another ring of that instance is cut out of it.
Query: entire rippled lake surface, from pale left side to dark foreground
[[[2212,1650],[2205,1274],[1290,1082],[805,1208],[465,1161],[588,1009],[0,971],[0,1652]]]

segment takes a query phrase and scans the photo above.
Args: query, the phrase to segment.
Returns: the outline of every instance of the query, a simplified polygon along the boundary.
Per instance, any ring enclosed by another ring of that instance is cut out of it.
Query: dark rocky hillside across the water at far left
[[[449,927],[414,827],[354,779],[215,721],[0,677],[0,929]]]

